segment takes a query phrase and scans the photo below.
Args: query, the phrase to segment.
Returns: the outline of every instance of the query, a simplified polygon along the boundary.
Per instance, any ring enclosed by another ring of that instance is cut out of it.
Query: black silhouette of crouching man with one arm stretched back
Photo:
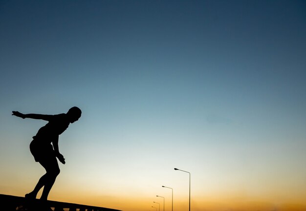
[[[31,118],[48,121],[44,127],[38,130],[30,144],[30,151],[35,161],[39,162],[44,167],[46,173],[39,179],[34,190],[25,194],[26,198],[35,199],[38,191],[44,187],[41,199],[47,200],[55,179],[60,173],[56,158],[58,158],[61,163],[65,164],[65,158],[59,152],[59,135],[67,129],[70,123],[77,121],[81,117],[81,114],[82,111],[78,107],[70,108],[66,114],[62,113],[57,115],[22,114],[18,111],[13,111],[12,115],[23,119]]]

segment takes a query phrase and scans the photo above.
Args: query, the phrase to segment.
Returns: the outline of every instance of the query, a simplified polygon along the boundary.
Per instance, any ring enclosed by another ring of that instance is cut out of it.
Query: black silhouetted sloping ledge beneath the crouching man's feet
[[[118,211],[109,208],[72,204],[67,202],[26,199],[20,196],[4,194],[0,194],[0,204],[1,211],[63,211],[64,208],[69,211]]]

